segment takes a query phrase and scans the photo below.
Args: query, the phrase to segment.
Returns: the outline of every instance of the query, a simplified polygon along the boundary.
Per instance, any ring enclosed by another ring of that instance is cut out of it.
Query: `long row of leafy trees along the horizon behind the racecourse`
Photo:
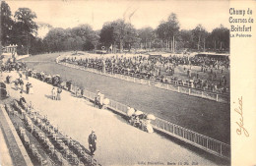
[[[90,25],[76,28],[52,28],[47,24],[36,24],[35,13],[29,8],[19,8],[14,17],[10,7],[1,2],[1,43],[2,45],[18,44],[19,54],[38,54],[68,50],[106,49],[113,52],[124,49],[179,50],[183,48],[196,50],[228,50],[229,30],[222,25],[207,31],[202,25],[194,29],[180,29],[175,14],[170,14],[158,28],[136,29],[131,23],[116,20],[94,30]],[[37,37],[37,29],[50,28],[43,39]]]

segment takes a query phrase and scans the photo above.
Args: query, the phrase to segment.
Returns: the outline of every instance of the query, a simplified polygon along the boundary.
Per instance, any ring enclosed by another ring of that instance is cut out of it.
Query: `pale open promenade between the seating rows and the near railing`
[[[14,72],[11,75],[18,77]],[[34,93],[24,93],[23,96],[28,102],[32,101],[34,108],[41,115],[47,115],[49,121],[64,134],[88,148],[88,136],[92,129],[96,131],[95,158],[101,165],[141,165],[143,162],[156,163],[150,165],[167,165],[168,162],[176,165],[178,162],[189,165],[192,162],[198,165],[224,164],[224,161],[212,158],[207,152],[198,153],[198,150],[190,150],[156,133],[148,134],[134,128],[111,111],[99,110],[93,103],[76,98],[68,91],[61,93],[60,101],[52,100],[52,85],[32,78],[29,82]],[[20,92],[13,86],[7,85],[9,94],[19,99]]]

